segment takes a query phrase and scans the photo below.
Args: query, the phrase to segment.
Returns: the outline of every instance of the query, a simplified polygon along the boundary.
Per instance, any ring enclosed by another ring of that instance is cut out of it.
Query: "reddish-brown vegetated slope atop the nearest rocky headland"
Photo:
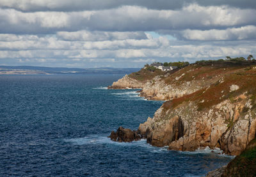
[[[222,69],[223,70],[223,69]],[[223,82],[216,81],[209,88],[203,88],[189,94],[187,96],[173,99],[164,103],[163,107],[166,109],[175,108],[184,102],[195,101],[198,103],[198,110],[204,110],[210,108],[213,105],[221,103],[225,99],[234,99],[243,93],[252,98],[256,96],[256,69],[244,69],[244,68],[233,68],[234,72],[230,72],[230,69],[226,69],[227,73],[223,77]],[[238,85],[239,89],[230,92],[231,85]],[[255,105],[255,99],[253,106]]]

